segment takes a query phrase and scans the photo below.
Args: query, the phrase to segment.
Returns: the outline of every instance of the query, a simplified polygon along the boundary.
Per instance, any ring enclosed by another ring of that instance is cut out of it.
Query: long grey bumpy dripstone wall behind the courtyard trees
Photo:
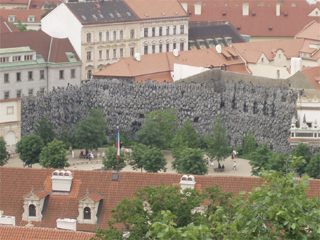
[[[134,137],[145,120],[145,112],[176,108],[179,124],[190,118],[200,136],[208,134],[221,115],[229,129],[231,146],[242,145],[245,134],[254,130],[258,143],[287,152],[297,92],[284,83],[272,87],[268,81],[262,85],[257,77],[230,73],[225,76],[213,70],[206,73],[206,81],[161,85],[92,80],[80,87],[56,88],[46,96],[23,97],[22,135],[33,133],[34,123],[43,115],[53,123],[58,135],[65,128],[71,133],[89,109],[98,107],[110,126],[109,137],[115,137],[117,125]]]

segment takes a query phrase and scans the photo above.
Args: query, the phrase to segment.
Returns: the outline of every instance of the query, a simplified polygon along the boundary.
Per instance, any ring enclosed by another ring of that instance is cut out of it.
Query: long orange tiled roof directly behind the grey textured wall
[[[226,52],[231,51],[232,54],[238,56],[231,47],[223,49]],[[142,55],[141,61],[137,61],[133,57],[123,58],[119,62],[94,73],[93,76],[139,77],[137,79],[142,81],[142,79],[147,79],[146,76],[149,75],[156,77],[159,82],[160,77],[168,77],[170,71],[173,71],[175,63],[206,68],[225,65],[227,70],[232,65],[243,65],[241,73],[245,71],[244,62],[240,57],[237,60],[231,58],[228,61],[222,54],[218,54],[215,49],[199,49],[180,51],[178,57],[175,57],[172,52],[165,52]]]

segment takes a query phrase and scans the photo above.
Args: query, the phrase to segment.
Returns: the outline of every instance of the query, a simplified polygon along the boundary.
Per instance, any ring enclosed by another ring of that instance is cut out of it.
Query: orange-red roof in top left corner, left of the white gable
[[[28,22],[28,17],[30,15],[35,16],[34,22],[40,22],[41,15],[44,14],[46,11],[42,9],[1,9],[0,15],[8,21],[9,15],[15,15],[16,20],[18,22]],[[32,23],[32,22],[30,22]]]

